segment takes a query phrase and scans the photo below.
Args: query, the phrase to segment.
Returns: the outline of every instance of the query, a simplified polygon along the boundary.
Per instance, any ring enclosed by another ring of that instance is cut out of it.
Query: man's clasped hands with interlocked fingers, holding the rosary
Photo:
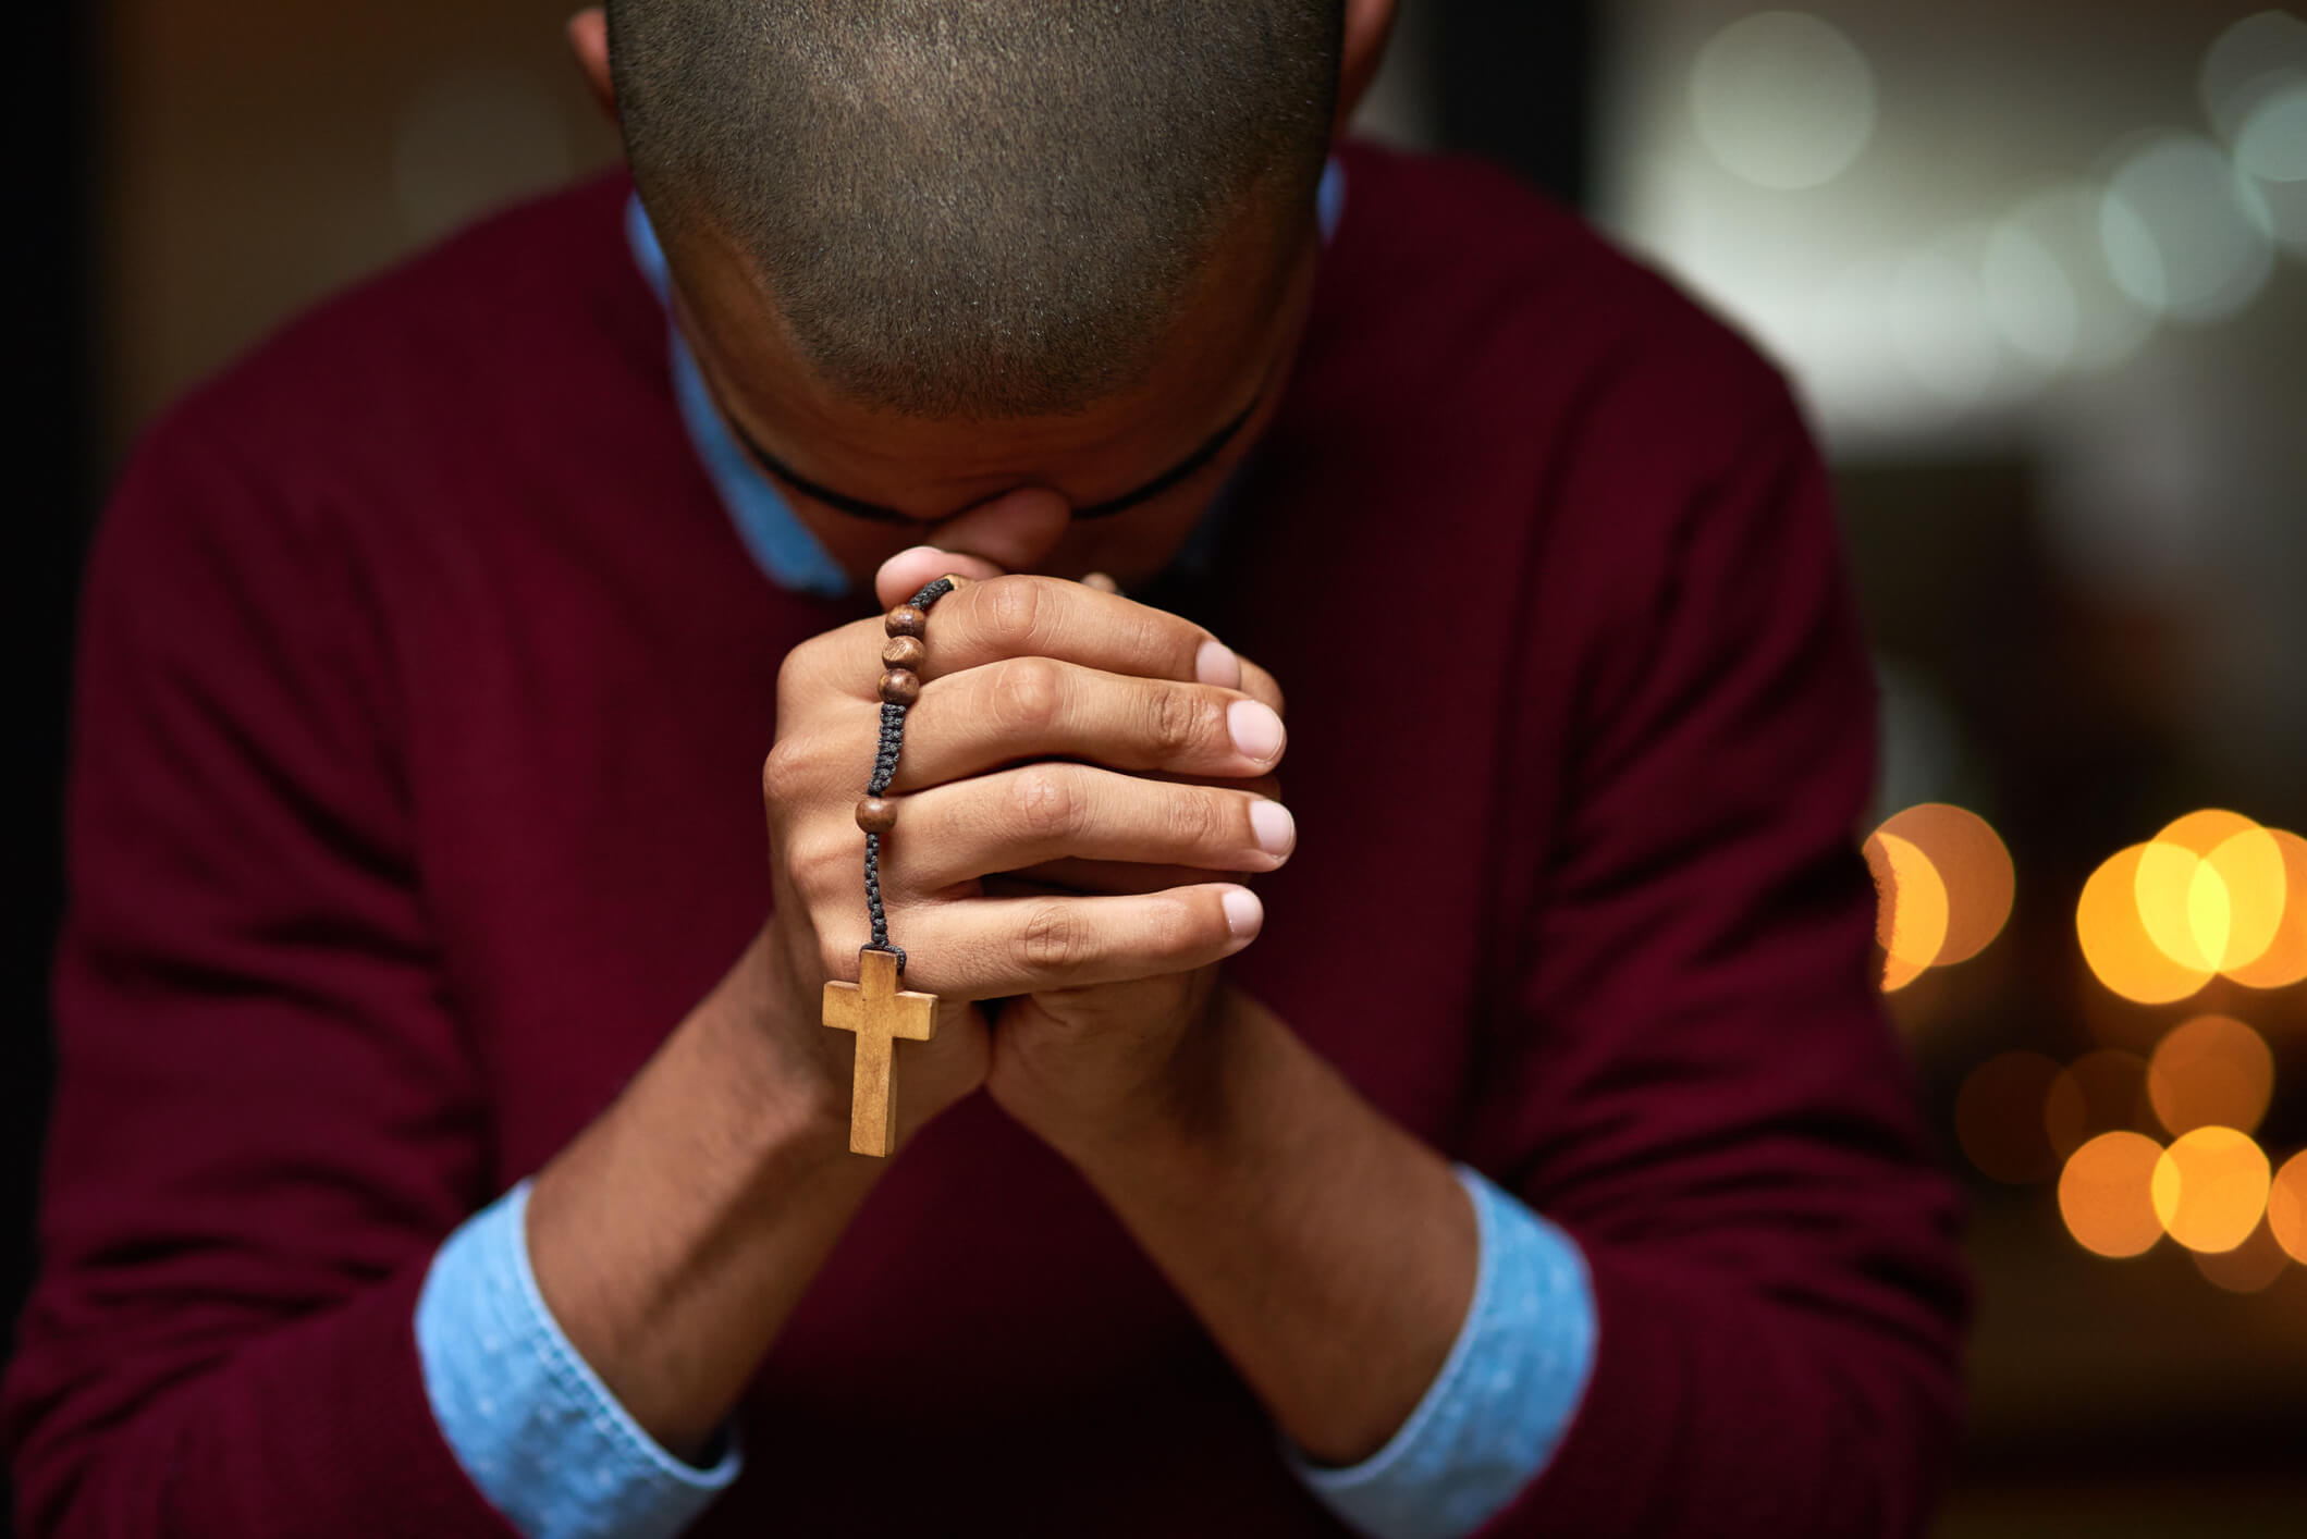
[[[950,556],[939,572],[990,568]],[[884,609],[914,586],[879,593]],[[854,1038],[817,1020],[824,981],[854,978],[870,939],[856,803],[884,641],[874,616],[787,655],[761,771],[773,1038],[840,1126]],[[987,575],[937,602],[920,681],[881,898],[902,985],[941,1015],[900,1054],[900,1144],[980,1084],[1073,1156],[1197,1117],[1218,1073],[1218,962],[1262,923],[1232,879],[1278,868],[1297,838],[1273,678],[1119,593]]]

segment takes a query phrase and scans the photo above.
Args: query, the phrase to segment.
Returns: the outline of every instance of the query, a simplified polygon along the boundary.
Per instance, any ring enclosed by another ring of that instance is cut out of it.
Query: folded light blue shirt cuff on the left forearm
[[[641,1431],[544,1306],[526,1216],[521,1181],[434,1255],[415,1320],[434,1419],[528,1539],[671,1539],[736,1479],[734,1426],[711,1470]]]

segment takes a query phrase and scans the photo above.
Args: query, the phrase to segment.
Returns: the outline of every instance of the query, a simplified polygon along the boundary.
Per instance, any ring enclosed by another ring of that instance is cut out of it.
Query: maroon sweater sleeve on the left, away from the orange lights
[[[0,1389],[21,1532],[514,1539],[418,1366],[487,1119],[378,605],[339,510],[198,399],[83,586],[42,1274]]]

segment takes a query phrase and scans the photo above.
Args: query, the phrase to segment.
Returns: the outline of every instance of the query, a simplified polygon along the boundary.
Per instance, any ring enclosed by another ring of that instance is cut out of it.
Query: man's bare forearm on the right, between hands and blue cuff
[[[1064,1149],[1283,1433],[1366,1458],[1433,1382],[1479,1237],[1449,1161],[1287,1024],[1225,990],[1202,1094],[1130,1142]]]

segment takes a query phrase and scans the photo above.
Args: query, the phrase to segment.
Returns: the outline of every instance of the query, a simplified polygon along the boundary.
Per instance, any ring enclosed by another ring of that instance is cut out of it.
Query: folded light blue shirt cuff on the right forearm
[[[1359,1465],[1283,1456],[1373,1539],[1463,1539],[1539,1477],[1594,1371],[1594,1283],[1578,1241],[1470,1165],[1481,1264],[1442,1371],[1400,1431]]]

